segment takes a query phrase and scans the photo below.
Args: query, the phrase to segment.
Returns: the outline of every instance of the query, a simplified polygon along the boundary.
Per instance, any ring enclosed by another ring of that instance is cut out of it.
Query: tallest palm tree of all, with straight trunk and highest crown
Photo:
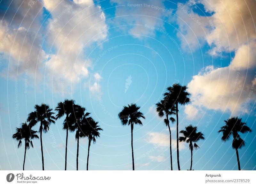
[[[187,86],[181,86],[179,83],[175,83],[172,86],[167,88],[167,92],[164,93],[165,99],[170,101],[170,104],[173,104],[175,107],[176,112],[176,140],[177,140],[177,164],[178,164],[178,170],[180,170],[180,158],[179,158],[179,109],[178,105],[185,105],[190,102],[189,96],[190,93],[187,91]]]

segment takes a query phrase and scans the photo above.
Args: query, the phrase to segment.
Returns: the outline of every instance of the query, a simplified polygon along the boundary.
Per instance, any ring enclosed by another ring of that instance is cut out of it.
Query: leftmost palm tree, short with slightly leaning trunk
[[[23,170],[24,170],[24,166],[25,166],[26,152],[27,152],[27,149],[29,149],[29,144],[32,147],[34,147],[33,143],[32,143],[32,139],[39,138],[36,135],[36,133],[37,133],[37,131],[31,130],[30,126],[25,122],[25,123],[21,123],[21,128],[16,128],[16,133],[12,135],[13,139],[16,139],[17,141],[19,141],[18,148],[22,144],[21,140],[24,139],[24,141],[25,141],[25,154],[24,154],[24,161],[23,161]]]

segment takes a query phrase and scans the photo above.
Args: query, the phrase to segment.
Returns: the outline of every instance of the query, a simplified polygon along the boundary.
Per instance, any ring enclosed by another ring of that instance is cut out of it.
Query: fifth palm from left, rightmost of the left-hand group
[[[87,164],[86,170],[88,170],[89,165],[89,153],[90,153],[90,146],[91,142],[96,143],[96,138],[100,137],[100,126],[98,125],[99,122],[95,122],[92,118],[87,118],[85,121],[85,125],[82,125],[82,129],[80,132],[80,137],[87,137],[88,142],[88,154],[87,154]]]

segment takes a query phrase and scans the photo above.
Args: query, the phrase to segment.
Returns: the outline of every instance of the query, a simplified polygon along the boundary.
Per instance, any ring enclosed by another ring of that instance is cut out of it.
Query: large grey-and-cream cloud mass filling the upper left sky
[[[1,1],[0,5],[6,7],[0,10],[0,49],[10,59],[10,76],[44,75],[49,87],[63,96],[89,76],[91,60],[84,48],[107,38],[105,14],[93,0]],[[50,16],[43,20],[47,11]],[[50,48],[48,55],[43,48]]]

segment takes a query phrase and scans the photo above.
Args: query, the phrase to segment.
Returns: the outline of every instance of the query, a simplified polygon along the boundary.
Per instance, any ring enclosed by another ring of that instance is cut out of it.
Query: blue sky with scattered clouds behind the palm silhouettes
[[[12,134],[34,105],[55,108],[64,99],[84,106],[103,129],[90,147],[89,170],[132,170],[131,129],[117,117],[130,103],[146,117],[133,130],[135,170],[170,170],[169,131],[155,104],[174,83],[191,93],[179,106],[179,130],[192,124],[205,136],[192,168],[237,170],[232,140],[223,143],[218,130],[238,116],[252,129],[241,134],[241,169],[256,170],[255,9],[254,0],[0,1],[0,170],[22,170],[24,144],[18,149]],[[43,133],[45,170],[64,170],[63,120]],[[40,140],[33,143],[25,169],[41,170]],[[179,147],[187,170],[188,144]],[[87,149],[80,139],[79,170]],[[76,169],[74,133],[67,162]]]

